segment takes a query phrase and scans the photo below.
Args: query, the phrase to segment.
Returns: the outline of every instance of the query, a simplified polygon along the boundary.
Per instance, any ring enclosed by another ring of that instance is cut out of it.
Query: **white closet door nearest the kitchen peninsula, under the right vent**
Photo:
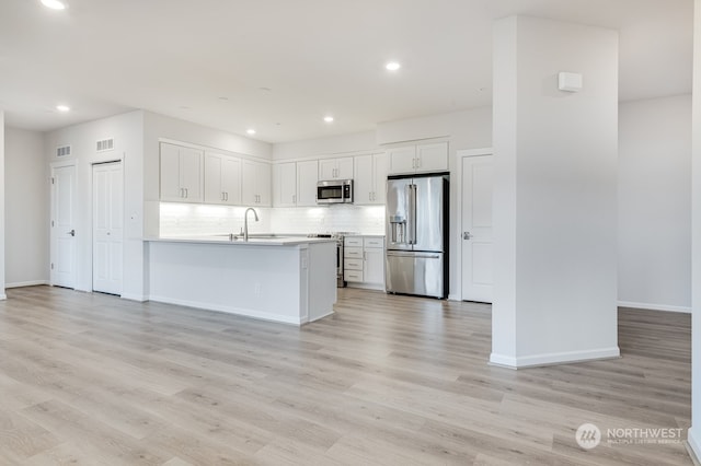
[[[92,289],[122,294],[122,162],[93,165]]]

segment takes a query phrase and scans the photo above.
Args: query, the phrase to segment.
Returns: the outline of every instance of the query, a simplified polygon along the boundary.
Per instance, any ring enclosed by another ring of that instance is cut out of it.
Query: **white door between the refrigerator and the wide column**
[[[462,158],[462,299],[492,302],[493,155]]]

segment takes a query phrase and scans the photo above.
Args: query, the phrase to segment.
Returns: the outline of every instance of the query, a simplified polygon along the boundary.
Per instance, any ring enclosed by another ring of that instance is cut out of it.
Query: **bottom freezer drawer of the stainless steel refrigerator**
[[[447,298],[443,253],[387,252],[387,292]]]

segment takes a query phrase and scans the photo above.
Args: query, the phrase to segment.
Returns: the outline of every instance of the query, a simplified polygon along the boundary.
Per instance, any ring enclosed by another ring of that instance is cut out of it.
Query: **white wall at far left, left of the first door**
[[[48,283],[49,184],[44,135],[5,128],[7,287]]]

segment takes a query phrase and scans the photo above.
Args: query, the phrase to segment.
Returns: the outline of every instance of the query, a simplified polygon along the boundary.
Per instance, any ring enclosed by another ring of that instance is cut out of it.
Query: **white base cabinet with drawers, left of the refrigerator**
[[[384,290],[384,237],[346,236],[344,280],[350,287]]]

